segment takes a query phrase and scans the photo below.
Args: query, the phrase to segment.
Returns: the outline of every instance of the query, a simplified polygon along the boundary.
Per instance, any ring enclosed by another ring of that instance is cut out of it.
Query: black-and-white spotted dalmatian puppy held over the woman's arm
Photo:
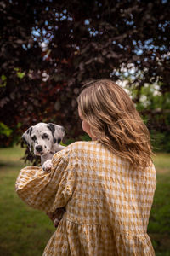
[[[22,136],[24,142],[33,146],[34,154],[41,156],[42,169],[46,172],[52,167],[53,155],[65,148],[59,143],[65,136],[65,128],[60,125],[38,123],[31,126]]]

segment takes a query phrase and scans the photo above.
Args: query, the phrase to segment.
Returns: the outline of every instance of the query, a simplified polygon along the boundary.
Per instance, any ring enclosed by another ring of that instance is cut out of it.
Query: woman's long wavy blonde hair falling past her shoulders
[[[151,160],[150,133],[127,93],[109,79],[90,81],[77,98],[82,117],[100,143],[143,169]]]

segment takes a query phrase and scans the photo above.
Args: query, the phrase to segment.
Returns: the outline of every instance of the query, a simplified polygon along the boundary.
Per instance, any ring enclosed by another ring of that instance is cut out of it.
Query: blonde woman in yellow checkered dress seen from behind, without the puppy
[[[155,255],[147,225],[156,171],[146,126],[127,93],[107,79],[85,85],[78,112],[92,141],[54,154],[49,173],[22,169],[16,182],[31,207],[66,209],[43,255]]]

